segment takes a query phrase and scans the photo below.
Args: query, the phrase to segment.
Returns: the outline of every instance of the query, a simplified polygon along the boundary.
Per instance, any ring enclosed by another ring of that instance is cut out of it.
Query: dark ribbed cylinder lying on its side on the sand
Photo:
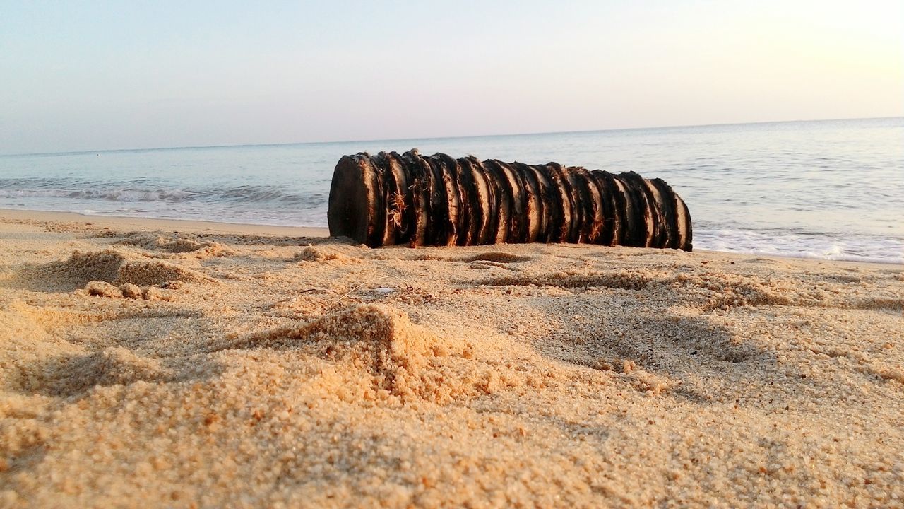
[[[660,178],[424,157],[417,149],[339,159],[327,220],[330,235],[371,247],[570,242],[692,249],[691,214]]]

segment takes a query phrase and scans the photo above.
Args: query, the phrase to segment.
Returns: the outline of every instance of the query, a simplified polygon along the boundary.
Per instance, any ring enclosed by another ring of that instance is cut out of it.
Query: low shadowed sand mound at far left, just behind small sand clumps
[[[182,283],[212,283],[204,274],[163,260],[129,259],[113,249],[75,252],[61,262],[42,265],[34,271],[33,279],[40,279],[47,286],[74,290],[91,282],[116,285],[126,283],[139,286],[156,286],[174,281]],[[97,289],[96,289],[97,290]],[[98,290],[104,294],[105,290]]]

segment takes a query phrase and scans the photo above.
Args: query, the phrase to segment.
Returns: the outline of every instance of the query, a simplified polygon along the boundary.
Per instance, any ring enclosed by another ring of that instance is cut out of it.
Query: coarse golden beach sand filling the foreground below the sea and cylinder
[[[0,506],[904,504],[899,265],[318,234],[0,212]]]

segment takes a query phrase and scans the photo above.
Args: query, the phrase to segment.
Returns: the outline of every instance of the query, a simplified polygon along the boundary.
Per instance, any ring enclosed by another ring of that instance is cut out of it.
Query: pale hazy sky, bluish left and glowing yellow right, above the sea
[[[0,12],[0,154],[904,116],[900,0]]]

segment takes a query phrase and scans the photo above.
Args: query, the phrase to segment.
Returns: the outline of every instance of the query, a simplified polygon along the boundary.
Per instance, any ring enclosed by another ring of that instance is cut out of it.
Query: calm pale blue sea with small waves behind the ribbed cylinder
[[[695,248],[904,264],[904,118],[0,156],[0,207],[326,226],[340,157],[412,148],[663,178]]]

